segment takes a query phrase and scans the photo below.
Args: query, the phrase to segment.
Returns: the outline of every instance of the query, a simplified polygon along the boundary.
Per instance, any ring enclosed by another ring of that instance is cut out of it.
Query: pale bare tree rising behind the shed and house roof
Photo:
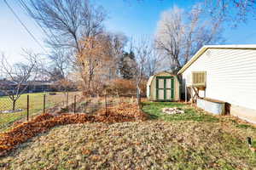
[[[161,15],[155,36],[156,48],[169,59],[175,73],[205,44],[221,40],[221,20],[204,20],[201,6],[188,14],[173,7]]]

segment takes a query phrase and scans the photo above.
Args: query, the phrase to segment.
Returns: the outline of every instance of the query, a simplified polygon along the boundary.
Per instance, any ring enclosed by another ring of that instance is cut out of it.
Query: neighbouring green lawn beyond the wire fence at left
[[[75,92],[74,92],[75,93]],[[72,96],[74,93],[70,93]],[[23,109],[23,111],[15,113],[0,113],[0,132],[8,129],[13,122],[26,117],[26,96],[22,94],[20,99],[16,103],[16,109]],[[43,112],[44,93],[29,94],[30,96],[30,116],[37,115]],[[57,104],[63,103],[65,99],[63,93],[57,93],[56,95],[47,95],[46,108],[52,107]],[[71,98],[70,98],[71,99]],[[11,110],[12,103],[8,97],[0,97],[0,111]]]

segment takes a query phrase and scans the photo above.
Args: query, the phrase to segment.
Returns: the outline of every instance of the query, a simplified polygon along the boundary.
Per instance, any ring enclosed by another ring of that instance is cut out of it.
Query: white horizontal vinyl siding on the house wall
[[[206,97],[256,109],[256,50],[208,48],[183,72],[207,71]]]

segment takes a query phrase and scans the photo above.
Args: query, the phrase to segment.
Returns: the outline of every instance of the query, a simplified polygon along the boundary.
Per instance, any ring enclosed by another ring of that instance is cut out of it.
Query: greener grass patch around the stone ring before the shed
[[[162,112],[165,107],[177,107],[185,111],[184,114],[167,115]],[[196,122],[218,122],[215,116],[207,115],[200,111],[195,111],[189,105],[176,102],[144,102],[143,111],[148,114],[150,119],[165,121],[196,121]]]

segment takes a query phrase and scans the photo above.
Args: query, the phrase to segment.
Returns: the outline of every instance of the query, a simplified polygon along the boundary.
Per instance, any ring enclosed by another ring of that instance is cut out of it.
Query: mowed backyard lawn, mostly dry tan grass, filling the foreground
[[[185,113],[166,115],[164,107]],[[256,139],[250,124],[181,103],[144,102],[143,111],[148,121],[54,127],[0,158],[0,168],[256,169],[246,141]]]

